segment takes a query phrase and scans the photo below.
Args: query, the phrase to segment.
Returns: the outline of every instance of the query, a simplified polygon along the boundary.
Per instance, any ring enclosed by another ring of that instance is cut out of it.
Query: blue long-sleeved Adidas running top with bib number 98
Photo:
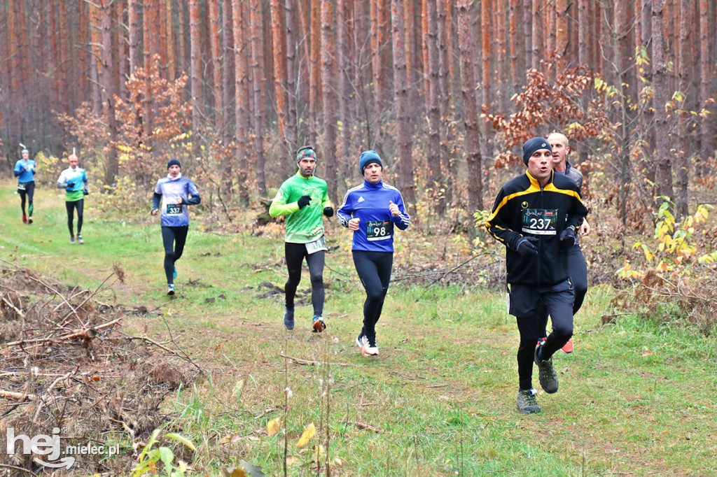
[[[397,217],[389,212],[390,202],[399,206]],[[364,180],[361,186],[349,189],[336,216],[344,227],[351,218],[361,219],[359,230],[353,232],[351,250],[356,251],[393,252],[394,224],[406,230],[411,223],[401,193],[383,181],[371,184]]]

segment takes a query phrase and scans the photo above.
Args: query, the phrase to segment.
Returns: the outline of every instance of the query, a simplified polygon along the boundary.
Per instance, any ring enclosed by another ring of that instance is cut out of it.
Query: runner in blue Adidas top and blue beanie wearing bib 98
[[[394,261],[394,225],[406,230],[411,218],[397,188],[381,180],[384,165],[373,150],[359,159],[364,175],[361,186],[346,192],[338,209],[338,221],[353,231],[353,264],[366,289],[364,327],[356,338],[361,355],[376,356],[376,322],[381,317]]]

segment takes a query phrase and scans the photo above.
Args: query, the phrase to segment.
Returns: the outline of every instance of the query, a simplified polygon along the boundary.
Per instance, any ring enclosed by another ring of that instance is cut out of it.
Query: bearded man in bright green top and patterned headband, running
[[[284,326],[286,329],[294,328],[294,297],[301,281],[301,265],[306,258],[314,312],[312,327],[314,332],[322,332],[326,329],[323,321],[323,266],[327,250],[322,214],[333,216],[333,206],[328,198],[326,180],[314,175],[316,153],[313,147],[300,148],[296,153],[296,163],[298,172],[282,183],[269,208],[272,217],[287,216],[284,247],[289,279],[285,286]]]

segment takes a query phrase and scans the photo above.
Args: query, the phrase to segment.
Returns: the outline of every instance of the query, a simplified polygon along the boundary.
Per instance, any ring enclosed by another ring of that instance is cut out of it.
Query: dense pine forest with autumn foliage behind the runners
[[[414,211],[470,221],[559,130],[640,228],[713,187],[716,24],[708,0],[0,0],[2,167],[78,147],[150,191],[178,157],[245,206],[310,143],[338,202],[371,148]]]

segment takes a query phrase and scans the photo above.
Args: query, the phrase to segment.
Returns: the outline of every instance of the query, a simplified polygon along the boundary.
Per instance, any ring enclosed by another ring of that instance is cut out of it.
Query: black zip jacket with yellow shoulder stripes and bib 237
[[[579,188],[564,175],[551,173],[544,188],[527,171],[508,180],[485,222],[488,232],[505,245],[508,283],[551,286],[567,279],[560,233],[568,226],[579,228],[585,216]],[[538,238],[537,255],[518,254],[516,244],[523,236]]]

